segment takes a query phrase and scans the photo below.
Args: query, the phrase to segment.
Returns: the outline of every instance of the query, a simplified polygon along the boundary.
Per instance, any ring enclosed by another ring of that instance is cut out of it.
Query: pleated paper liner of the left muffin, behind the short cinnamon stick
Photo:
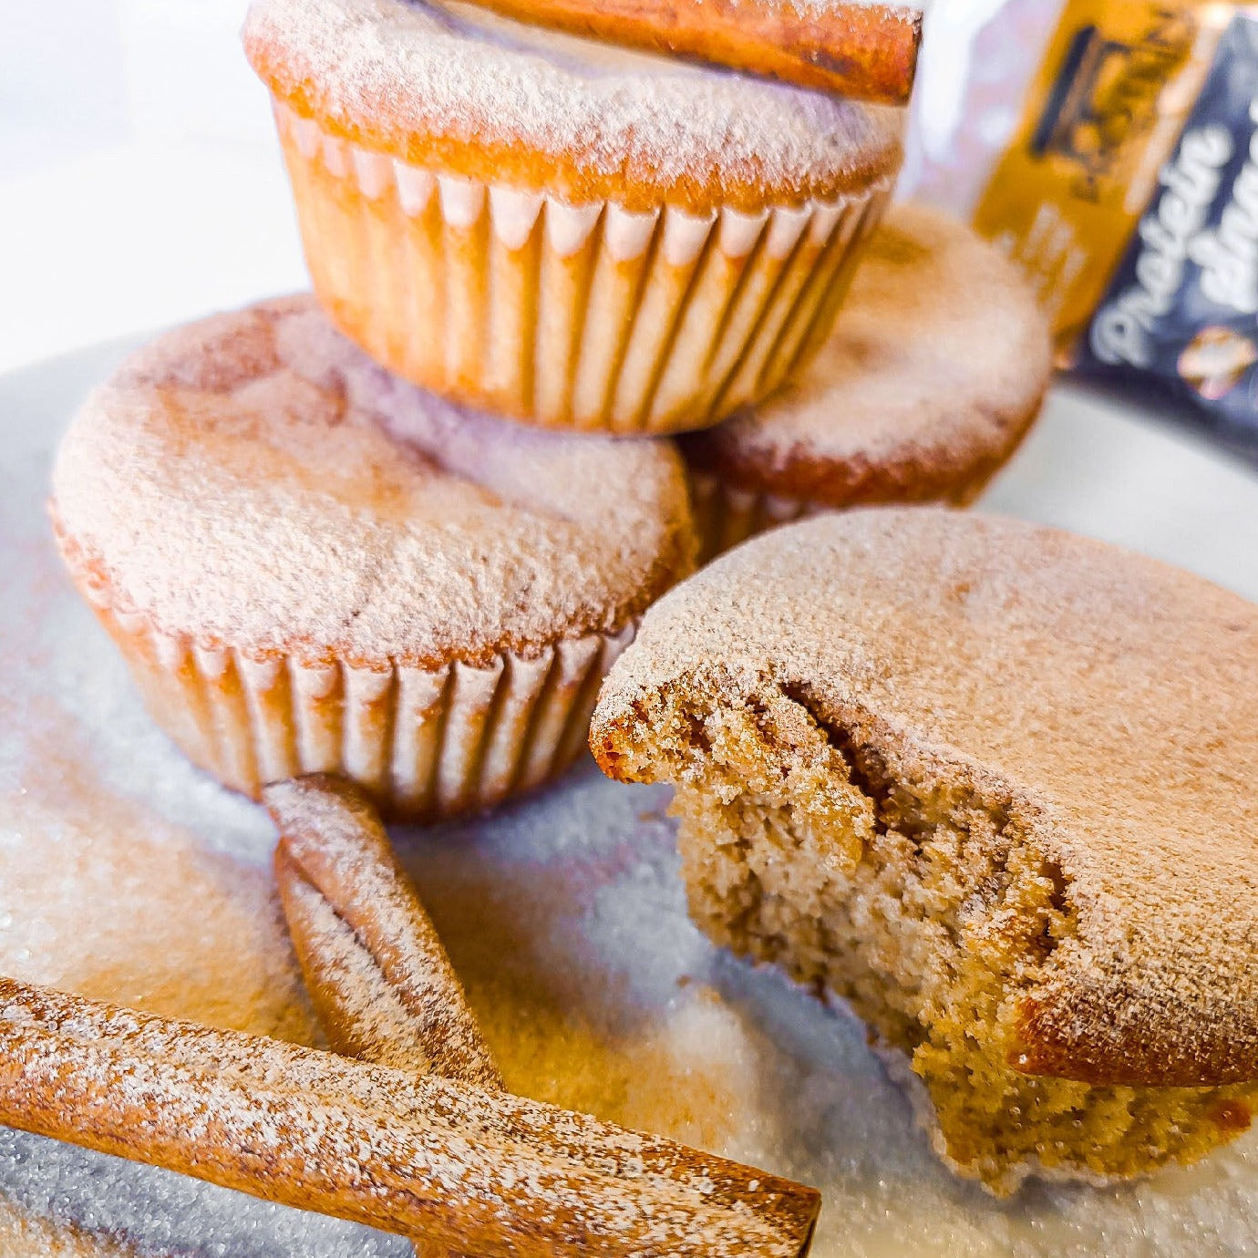
[[[268,782],[338,774],[389,818],[419,821],[488,808],[567,769],[585,749],[599,684],[635,632],[503,653],[488,667],[356,668],[209,649],[79,585],[150,713],[224,785],[257,798]]]

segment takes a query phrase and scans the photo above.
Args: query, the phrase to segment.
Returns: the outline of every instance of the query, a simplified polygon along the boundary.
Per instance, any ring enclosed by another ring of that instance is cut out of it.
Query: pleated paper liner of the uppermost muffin
[[[276,117],[332,320],[399,375],[546,428],[672,433],[760,401],[828,330],[889,196],[574,206]]]

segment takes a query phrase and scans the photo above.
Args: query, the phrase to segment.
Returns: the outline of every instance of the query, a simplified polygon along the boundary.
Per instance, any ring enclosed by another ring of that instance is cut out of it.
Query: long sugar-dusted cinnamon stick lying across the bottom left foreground
[[[554,1106],[11,979],[0,1122],[484,1258],[795,1258],[819,1208]]]

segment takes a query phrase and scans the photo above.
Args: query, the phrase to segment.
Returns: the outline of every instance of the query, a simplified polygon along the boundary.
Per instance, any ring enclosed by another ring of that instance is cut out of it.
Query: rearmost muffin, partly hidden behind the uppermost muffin
[[[969,504],[1050,374],[1048,321],[1016,268],[962,224],[894,206],[811,366],[682,439],[707,555],[818,511]]]

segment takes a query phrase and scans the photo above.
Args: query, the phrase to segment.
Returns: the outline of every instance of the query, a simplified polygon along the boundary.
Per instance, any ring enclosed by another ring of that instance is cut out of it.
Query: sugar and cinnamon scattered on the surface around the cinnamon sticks
[[[155,730],[48,537],[58,425],[45,416],[68,415],[116,357],[4,391],[0,971],[304,1040],[309,1009],[265,893],[263,810]],[[816,1185],[816,1258],[1253,1248],[1253,1136],[1127,1188],[1035,1188],[999,1205],[959,1184],[863,1028],[715,954],[687,921],[665,804],[667,791],[587,766],[491,818],[399,832],[508,1088]],[[0,1252],[411,1253],[400,1238],[3,1130]]]

